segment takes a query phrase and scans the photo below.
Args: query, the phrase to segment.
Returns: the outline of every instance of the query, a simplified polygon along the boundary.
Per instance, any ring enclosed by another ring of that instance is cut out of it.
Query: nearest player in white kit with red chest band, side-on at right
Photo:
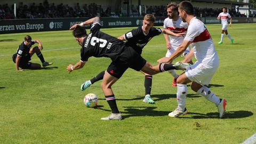
[[[177,79],[177,102],[178,107],[172,111],[170,117],[179,117],[188,113],[186,109],[186,95],[188,93],[187,83],[191,83],[191,89],[203,95],[207,100],[215,103],[218,107],[219,117],[225,113],[226,100],[219,99],[206,86],[209,85],[211,78],[219,67],[219,59],[215,51],[212,38],[207,31],[204,23],[194,17],[193,6],[188,1],[179,4],[179,13],[183,22],[188,22],[187,35],[182,44],[178,47],[171,57],[159,59],[158,62],[172,62],[179,57],[189,44],[193,47],[190,53],[194,52],[196,62],[188,67],[185,73]],[[189,53],[189,55],[190,55]]]

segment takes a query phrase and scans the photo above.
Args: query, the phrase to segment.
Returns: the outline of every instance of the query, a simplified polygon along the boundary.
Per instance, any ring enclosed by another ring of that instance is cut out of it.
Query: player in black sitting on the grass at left
[[[31,47],[35,43],[38,43],[38,46]],[[41,68],[40,64],[29,62],[34,53],[36,53],[37,57],[41,60],[43,67],[52,65],[52,62],[46,62],[44,60],[43,54],[41,53],[42,49],[43,45],[39,40],[32,40],[29,35],[25,36],[24,41],[19,45],[17,52],[12,55],[12,60],[15,63],[16,70],[21,71],[22,69]]]

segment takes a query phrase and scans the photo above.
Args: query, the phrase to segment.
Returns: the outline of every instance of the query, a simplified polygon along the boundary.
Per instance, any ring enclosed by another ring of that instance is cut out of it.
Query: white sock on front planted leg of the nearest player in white
[[[177,102],[179,110],[186,108],[186,95],[188,94],[187,84],[177,84]]]

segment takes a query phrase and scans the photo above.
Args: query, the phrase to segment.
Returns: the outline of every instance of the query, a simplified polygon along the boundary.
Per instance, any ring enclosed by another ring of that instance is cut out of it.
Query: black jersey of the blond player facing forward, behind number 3
[[[142,30],[142,26],[140,26],[137,29],[133,29],[124,34],[124,37],[127,40],[126,44],[141,54],[143,47],[150,41],[150,39],[160,34],[162,34],[161,28],[152,27],[146,35]]]

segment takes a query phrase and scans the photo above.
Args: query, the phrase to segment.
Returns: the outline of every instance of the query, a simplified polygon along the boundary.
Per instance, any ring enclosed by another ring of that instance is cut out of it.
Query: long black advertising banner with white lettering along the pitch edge
[[[155,26],[163,26],[166,17],[157,17]],[[27,33],[35,31],[68,30],[76,23],[86,21],[88,18],[59,18],[59,19],[18,19],[0,20],[0,34]],[[101,18],[102,28],[138,27],[142,25],[139,18]],[[220,23],[217,18],[198,18],[206,24]],[[233,18],[233,23],[256,22],[255,18]],[[90,28],[90,26],[86,26]]]

